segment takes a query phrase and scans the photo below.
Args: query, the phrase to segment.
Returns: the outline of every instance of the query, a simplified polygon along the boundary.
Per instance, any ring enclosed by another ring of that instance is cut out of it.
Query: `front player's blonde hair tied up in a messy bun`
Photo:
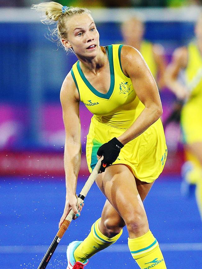
[[[57,26],[54,29],[50,29],[49,37],[52,41],[56,41],[58,45],[62,45],[62,39],[67,39],[67,25],[68,18],[74,15],[80,15],[83,13],[88,14],[90,17],[90,11],[87,8],[69,7],[64,13],[62,12],[62,5],[57,2],[44,2],[37,5],[32,5],[32,9],[45,13],[44,19],[41,20],[44,24],[53,24],[57,22]],[[65,50],[68,51],[67,48]]]

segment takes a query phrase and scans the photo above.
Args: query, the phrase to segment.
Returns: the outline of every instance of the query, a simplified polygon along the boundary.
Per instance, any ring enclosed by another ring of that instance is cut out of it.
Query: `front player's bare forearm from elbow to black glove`
[[[142,134],[145,130],[149,128],[155,121],[159,119],[162,115],[162,109],[147,108],[140,113],[134,123],[117,139],[123,144],[127,144],[129,141],[135,139],[138,135]]]

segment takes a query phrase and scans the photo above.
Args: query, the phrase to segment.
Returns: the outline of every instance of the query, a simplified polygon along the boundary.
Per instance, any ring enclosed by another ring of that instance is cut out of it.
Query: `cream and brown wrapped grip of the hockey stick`
[[[93,185],[94,181],[96,180],[99,171],[100,171],[100,166],[101,166],[101,159],[99,159],[99,161],[97,162],[95,168],[93,169],[92,173],[90,174],[88,180],[85,182],[85,185],[83,186],[83,189],[81,190],[79,196],[78,196],[78,203],[82,203],[83,200],[85,199],[87,193],[89,192],[91,186]],[[64,233],[66,232],[66,230],[68,229],[72,218],[74,217],[74,212],[71,209],[70,212],[68,213],[67,217],[65,218],[65,220],[62,222],[62,225],[60,227],[60,229],[57,232],[57,236],[59,238],[62,238],[62,236],[64,235]]]

